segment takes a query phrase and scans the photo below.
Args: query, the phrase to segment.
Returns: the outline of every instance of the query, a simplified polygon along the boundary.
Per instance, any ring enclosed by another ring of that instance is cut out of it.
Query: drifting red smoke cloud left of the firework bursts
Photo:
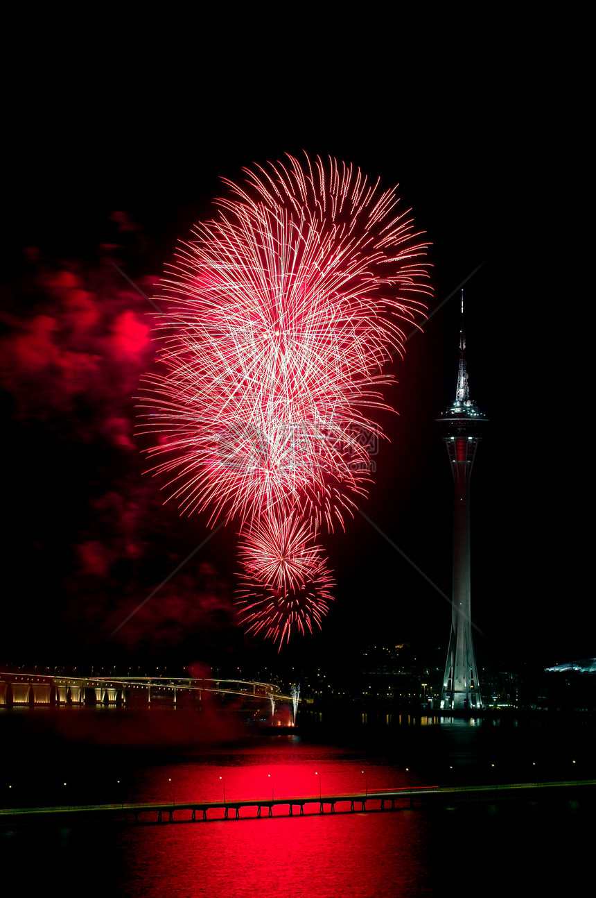
[[[134,233],[126,216],[118,223]],[[177,510],[164,509],[160,484],[143,478],[134,438],[152,309],[108,261],[51,269],[39,251],[27,256],[29,274],[5,295],[0,383],[25,447],[17,459],[24,501],[19,486],[13,502],[30,507],[23,564],[30,545],[39,558],[28,601],[51,603],[50,620],[77,647],[152,656],[221,638],[236,612],[227,584],[197,557],[110,642],[189,551],[177,542]],[[155,281],[138,283],[151,295]]]

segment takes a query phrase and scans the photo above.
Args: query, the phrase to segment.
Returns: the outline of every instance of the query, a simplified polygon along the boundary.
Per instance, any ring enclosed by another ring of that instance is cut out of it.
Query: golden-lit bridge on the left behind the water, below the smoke
[[[181,697],[199,706],[210,694],[240,697],[252,702],[292,703],[279,686],[269,682],[207,679],[171,676],[78,676],[62,674],[27,674],[0,672],[0,705],[92,705],[122,704],[134,701],[168,702],[173,706]]]

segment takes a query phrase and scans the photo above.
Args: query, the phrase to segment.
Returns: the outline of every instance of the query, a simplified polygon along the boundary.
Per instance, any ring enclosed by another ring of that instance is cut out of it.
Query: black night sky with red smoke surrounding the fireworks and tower
[[[151,305],[114,265],[151,295],[177,238],[214,214],[221,176],[303,150],[400,184],[432,242],[431,312],[481,265],[465,293],[471,395],[490,418],[471,490],[480,662],[594,654],[582,88],[547,54],[506,49],[505,76],[482,47],[403,69],[386,52],[381,69],[372,53],[356,66],[345,47],[283,78],[272,57],[202,57],[176,87],[116,44],[125,66],[36,58],[35,90],[13,95],[6,169],[2,663],[275,663],[234,618],[233,526],[110,636],[208,533],[207,515],[180,518],[165,481],[143,476],[134,396]],[[452,481],[435,418],[453,400],[458,313],[456,294],[394,366],[399,416],[382,418],[390,442],[361,504],[447,594]],[[324,536],[337,580],[324,630],[286,660],[346,661],[379,641],[446,649],[445,599],[363,517],[346,531]]]

